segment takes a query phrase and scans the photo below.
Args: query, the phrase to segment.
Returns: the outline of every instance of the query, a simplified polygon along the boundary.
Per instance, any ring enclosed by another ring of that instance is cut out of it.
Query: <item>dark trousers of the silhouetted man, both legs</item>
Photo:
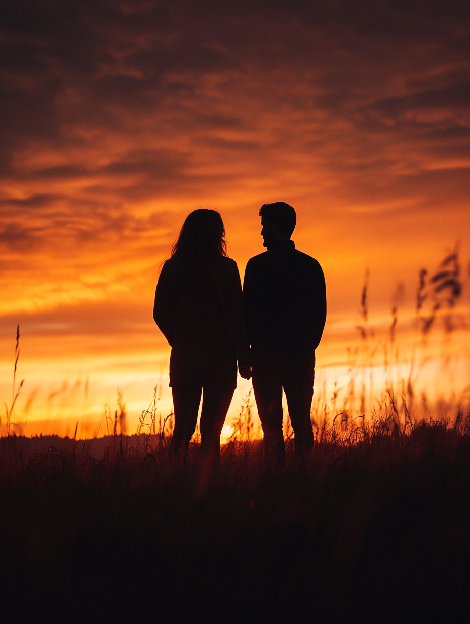
[[[285,447],[282,434],[282,389],[294,430],[296,462],[301,462],[313,446],[310,420],[315,352],[298,356],[257,353],[253,351],[253,390],[263,426],[265,459],[268,466],[284,465]]]

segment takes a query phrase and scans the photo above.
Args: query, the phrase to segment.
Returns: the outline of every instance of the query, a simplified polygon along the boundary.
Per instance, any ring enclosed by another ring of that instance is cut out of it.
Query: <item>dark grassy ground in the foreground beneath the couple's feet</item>
[[[2,439],[2,620],[469,622],[468,425],[354,439],[277,476],[228,445],[208,486],[197,446],[171,474],[155,437]]]

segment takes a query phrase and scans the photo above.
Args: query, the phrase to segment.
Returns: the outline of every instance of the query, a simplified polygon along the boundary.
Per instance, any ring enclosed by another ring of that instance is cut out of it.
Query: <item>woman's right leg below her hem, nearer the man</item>
[[[199,423],[201,432],[201,455],[205,472],[218,470],[220,466],[220,433],[232,401],[232,384],[226,386],[204,386],[202,411]]]

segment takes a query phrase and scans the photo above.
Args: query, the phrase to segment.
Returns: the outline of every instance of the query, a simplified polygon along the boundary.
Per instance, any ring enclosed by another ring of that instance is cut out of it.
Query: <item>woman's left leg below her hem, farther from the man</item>
[[[170,457],[182,466],[186,463],[188,447],[196,429],[201,386],[172,387],[175,429],[170,442]]]

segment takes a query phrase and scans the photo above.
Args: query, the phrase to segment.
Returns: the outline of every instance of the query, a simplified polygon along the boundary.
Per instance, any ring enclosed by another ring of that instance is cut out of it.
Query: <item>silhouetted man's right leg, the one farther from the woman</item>
[[[296,464],[303,462],[306,453],[313,447],[313,431],[310,411],[313,397],[315,360],[295,362],[286,371],[284,391],[290,421],[294,430],[294,452]]]

